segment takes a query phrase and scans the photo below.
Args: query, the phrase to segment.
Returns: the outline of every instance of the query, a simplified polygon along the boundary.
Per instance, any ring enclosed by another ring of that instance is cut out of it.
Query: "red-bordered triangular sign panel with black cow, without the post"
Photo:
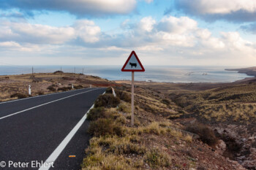
[[[140,63],[138,56],[135,51],[129,55],[127,62],[124,63],[122,72],[145,72],[143,65]]]

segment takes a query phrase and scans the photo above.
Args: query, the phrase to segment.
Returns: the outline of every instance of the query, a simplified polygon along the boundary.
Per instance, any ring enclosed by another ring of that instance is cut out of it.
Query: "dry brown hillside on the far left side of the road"
[[[65,90],[116,85],[100,77],[73,73],[35,73],[0,76],[0,101],[56,93]]]

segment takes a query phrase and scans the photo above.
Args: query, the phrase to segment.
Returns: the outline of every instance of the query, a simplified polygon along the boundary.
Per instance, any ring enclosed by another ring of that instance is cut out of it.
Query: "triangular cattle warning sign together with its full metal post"
[[[131,122],[132,126],[134,125],[135,118],[134,118],[134,91],[135,91],[135,72],[145,72],[143,65],[140,63],[138,56],[136,55],[135,51],[129,55],[127,62],[124,63],[123,68],[121,69],[122,72],[132,72],[132,116]]]

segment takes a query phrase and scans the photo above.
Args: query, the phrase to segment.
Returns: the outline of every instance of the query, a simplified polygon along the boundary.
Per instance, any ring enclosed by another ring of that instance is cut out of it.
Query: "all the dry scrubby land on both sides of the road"
[[[114,87],[91,109],[82,169],[256,169],[256,79],[232,83],[135,82],[72,74],[0,77],[1,101]]]

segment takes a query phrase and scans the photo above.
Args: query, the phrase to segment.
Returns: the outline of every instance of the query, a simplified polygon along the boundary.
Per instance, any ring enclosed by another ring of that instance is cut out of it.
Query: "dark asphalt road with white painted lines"
[[[90,138],[85,115],[104,91],[87,88],[0,103],[0,169],[39,169],[45,161],[44,166],[53,164],[50,169],[80,169]]]

